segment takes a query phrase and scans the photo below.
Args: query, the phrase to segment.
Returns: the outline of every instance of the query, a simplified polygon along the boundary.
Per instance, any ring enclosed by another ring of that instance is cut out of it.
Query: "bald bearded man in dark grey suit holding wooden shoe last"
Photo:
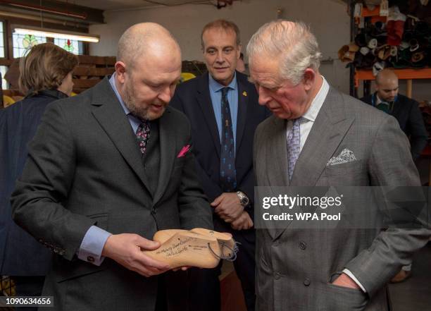
[[[46,108],[12,205],[54,252],[42,293],[54,310],[166,310],[170,267],[142,250],[160,246],[158,230],[212,228],[185,152],[189,121],[168,106],[180,73],[168,30],[137,24],[120,38],[111,78]]]

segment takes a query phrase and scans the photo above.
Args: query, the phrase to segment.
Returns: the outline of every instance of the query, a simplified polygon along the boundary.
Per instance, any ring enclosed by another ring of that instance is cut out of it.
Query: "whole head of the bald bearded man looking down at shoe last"
[[[140,23],[118,42],[115,87],[130,113],[141,120],[160,118],[181,76],[181,51],[156,23]]]

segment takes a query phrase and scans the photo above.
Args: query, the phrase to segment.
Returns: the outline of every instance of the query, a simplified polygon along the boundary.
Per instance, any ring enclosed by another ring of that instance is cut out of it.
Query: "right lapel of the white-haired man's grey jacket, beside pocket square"
[[[290,185],[316,185],[327,162],[334,155],[344,135],[354,122],[354,118],[346,118],[344,109],[341,94],[330,87],[325,102],[320,108],[306,143],[296,161]],[[290,223],[291,221],[286,222],[286,227]],[[284,231],[285,228],[277,229],[274,238],[280,236]]]

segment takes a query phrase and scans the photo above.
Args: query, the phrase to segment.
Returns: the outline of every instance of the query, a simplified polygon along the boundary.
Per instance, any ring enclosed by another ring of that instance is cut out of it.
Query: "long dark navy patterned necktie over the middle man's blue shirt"
[[[221,150],[220,150],[220,181],[224,192],[232,192],[237,188],[237,172],[235,170],[235,145],[232,131],[232,118],[230,117],[227,91],[229,87],[223,87],[221,100]]]

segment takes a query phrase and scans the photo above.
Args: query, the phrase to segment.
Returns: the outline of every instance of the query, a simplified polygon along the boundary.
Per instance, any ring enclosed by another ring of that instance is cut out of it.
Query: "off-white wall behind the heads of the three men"
[[[277,13],[281,8],[282,13]],[[90,44],[90,54],[113,56],[120,35],[131,25],[155,22],[168,28],[177,38],[182,49],[182,59],[203,61],[200,49],[201,29],[211,20],[225,18],[237,23],[241,30],[243,51],[251,35],[264,23],[276,18],[303,20],[311,25],[318,38],[323,59],[321,72],[332,85],[349,92],[349,70],[338,60],[337,51],[349,42],[349,16],[342,0],[243,0],[218,10],[213,6],[187,4],[172,7],[154,7],[129,11],[108,11],[105,25],[92,25],[90,33],[101,40]]]

